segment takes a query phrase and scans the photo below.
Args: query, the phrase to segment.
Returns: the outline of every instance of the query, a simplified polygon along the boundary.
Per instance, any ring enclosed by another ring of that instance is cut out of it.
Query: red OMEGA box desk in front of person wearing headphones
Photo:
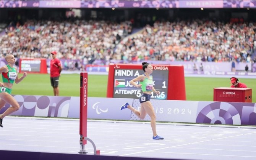
[[[214,88],[213,101],[220,102],[251,102],[251,88]]]

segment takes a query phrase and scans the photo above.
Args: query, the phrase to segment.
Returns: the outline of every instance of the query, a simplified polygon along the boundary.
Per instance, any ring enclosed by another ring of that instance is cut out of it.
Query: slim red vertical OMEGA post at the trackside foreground
[[[80,146],[86,144],[87,137],[87,84],[88,73],[80,73]]]

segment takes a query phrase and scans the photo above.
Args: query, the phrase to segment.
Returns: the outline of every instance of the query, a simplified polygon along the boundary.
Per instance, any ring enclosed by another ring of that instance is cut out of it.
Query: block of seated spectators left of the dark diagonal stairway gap
[[[121,37],[131,32],[130,22],[26,21],[10,25],[0,37],[0,54],[18,58],[109,59]]]

